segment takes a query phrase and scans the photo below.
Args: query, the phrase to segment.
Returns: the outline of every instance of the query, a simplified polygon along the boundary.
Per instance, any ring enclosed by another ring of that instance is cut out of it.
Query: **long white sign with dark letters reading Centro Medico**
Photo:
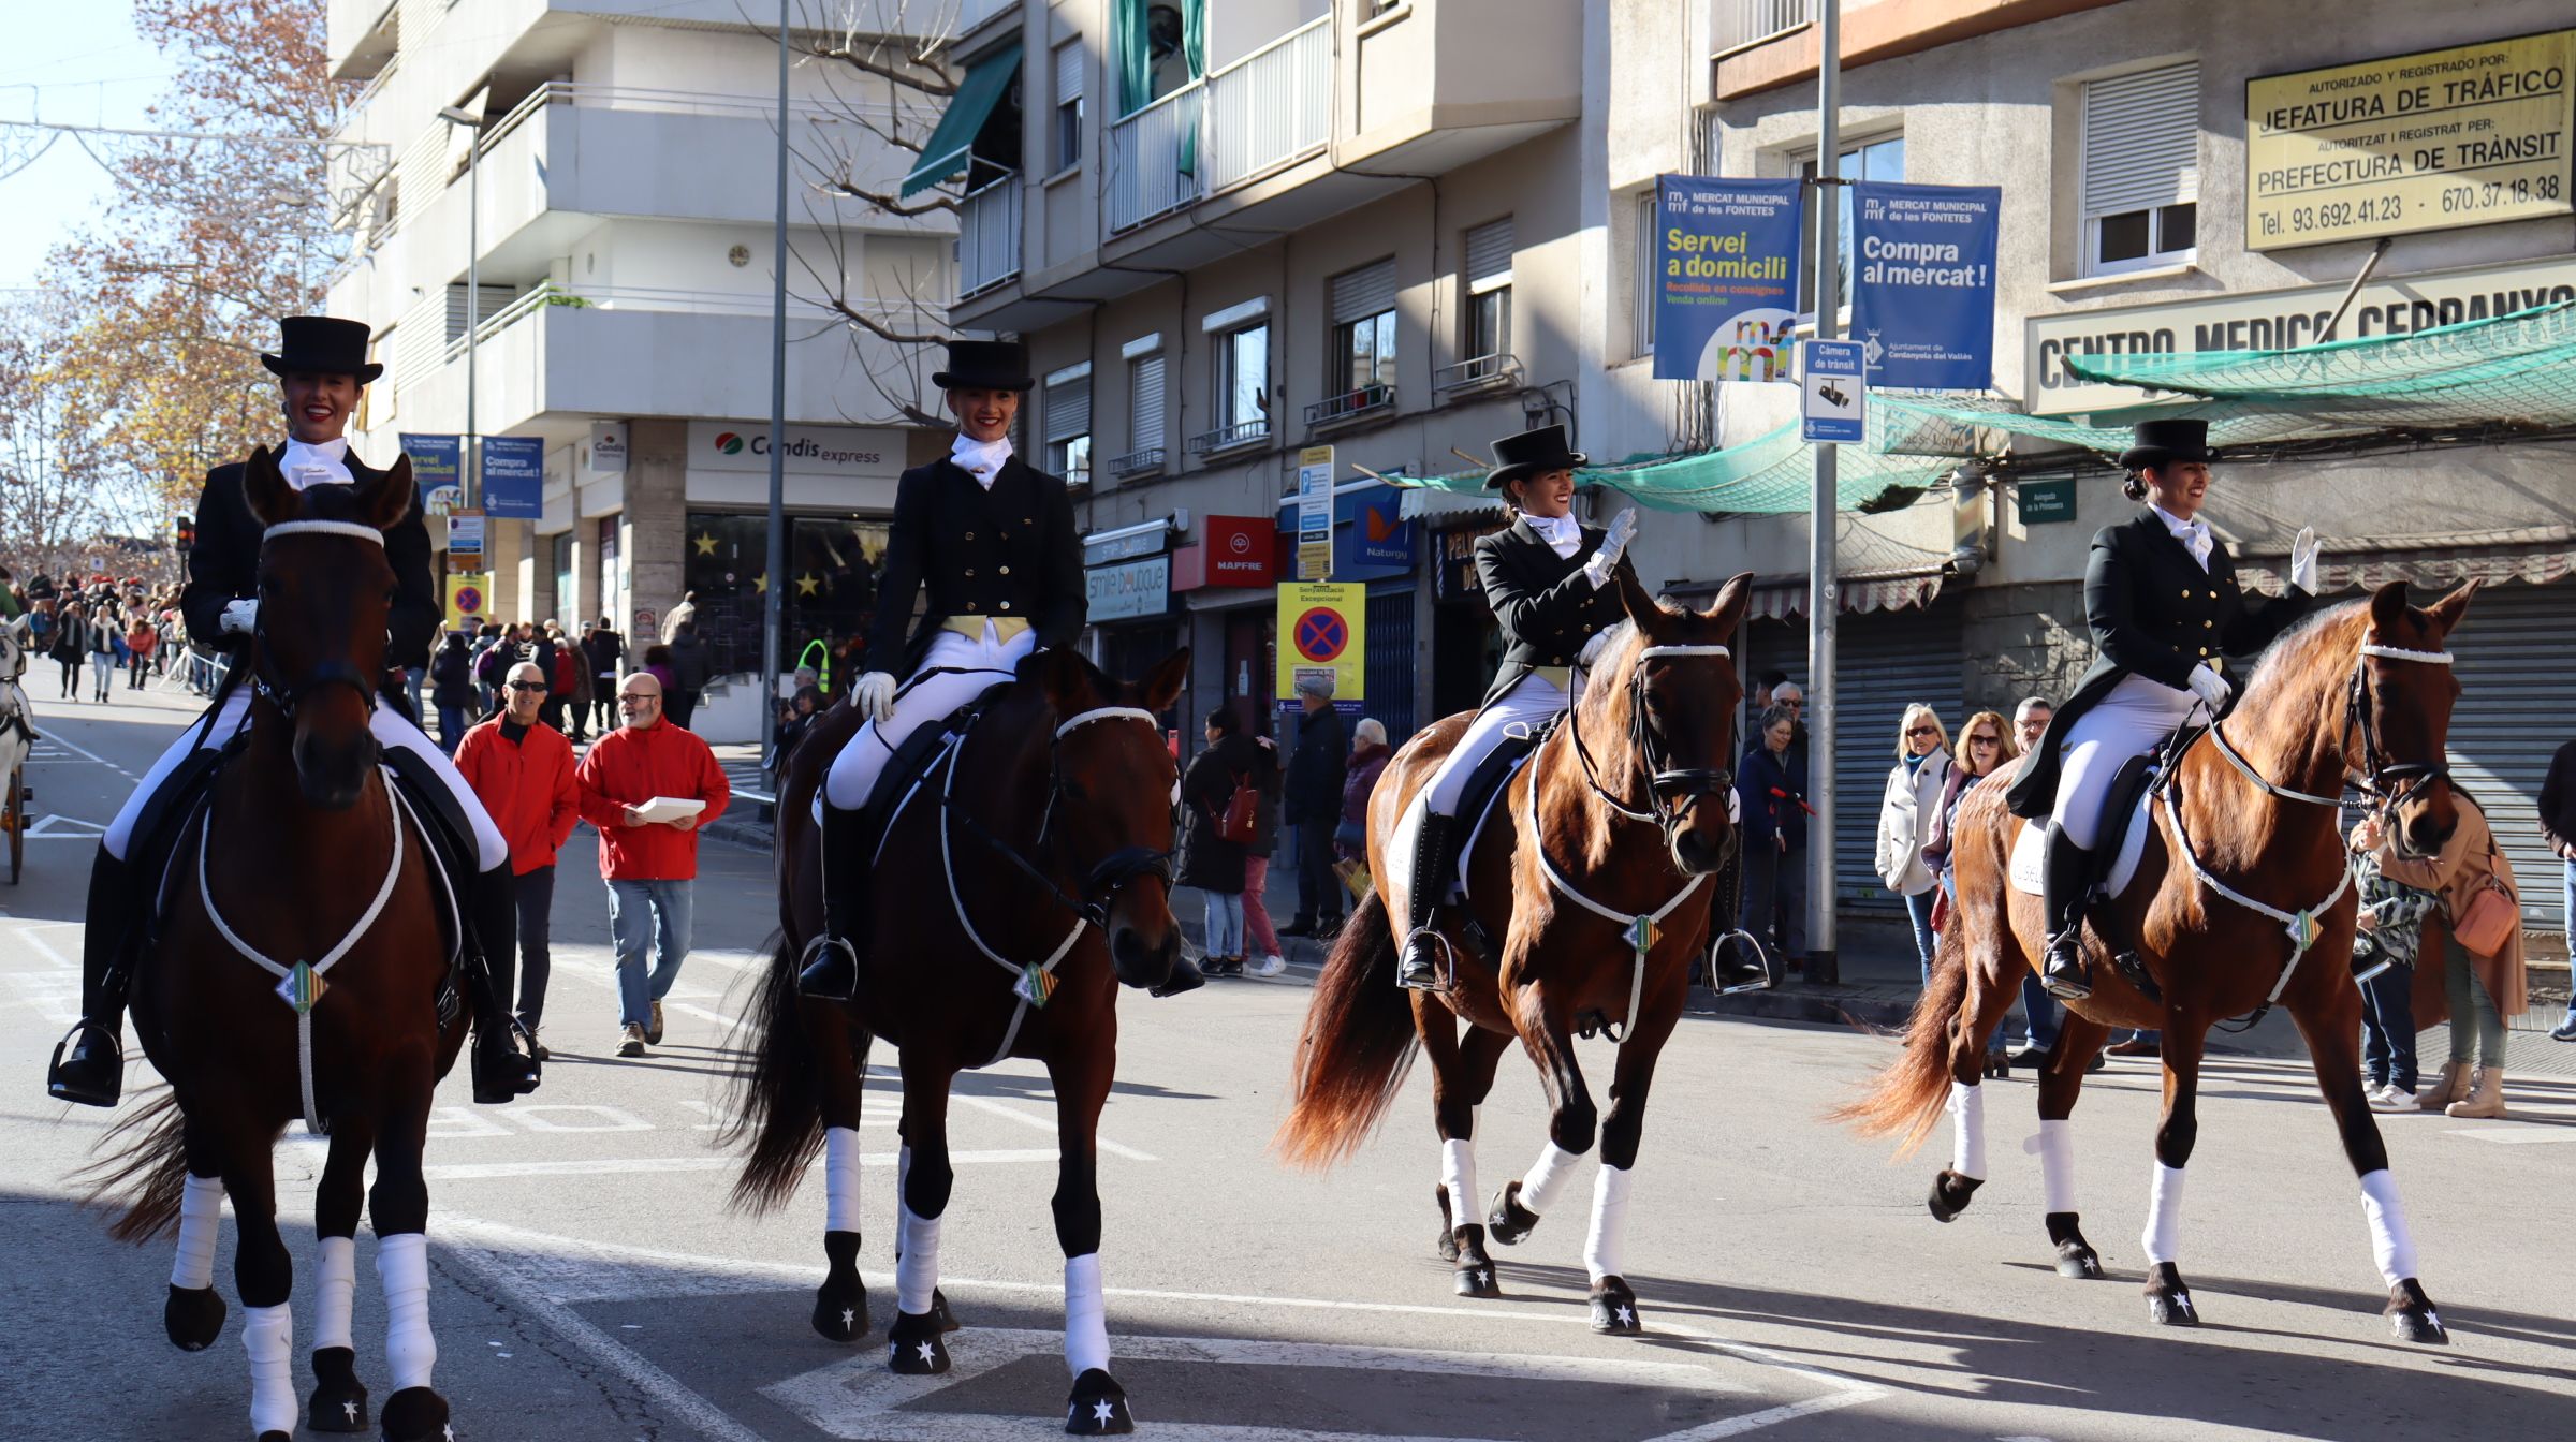
[[[2030,415],[2112,409],[2148,399],[2136,386],[2097,386],[2066,371],[2069,355],[2197,355],[2293,350],[2324,340],[2347,283],[2251,291],[2208,301],[2030,317],[2022,399]],[[2372,281],[2352,299],[2334,340],[2414,335],[2576,301],[2576,255]]]

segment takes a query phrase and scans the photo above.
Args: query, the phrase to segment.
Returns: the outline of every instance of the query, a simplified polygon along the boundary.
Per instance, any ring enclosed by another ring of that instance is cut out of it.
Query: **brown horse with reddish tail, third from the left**
[[[1602,1166],[1592,1190],[1592,1329],[1636,1334],[1636,1293],[1620,1275],[1620,1221],[1646,1125],[1656,1053],[1690,999],[1690,960],[1708,932],[1718,870],[1736,847],[1734,716],[1744,698],[1726,641],[1744,621],[1752,577],[1708,610],[1667,608],[1620,582],[1628,623],[1602,651],[1589,690],[1525,762],[1468,850],[1468,904],[1440,912],[1453,958],[1479,955],[1468,927],[1499,937],[1494,966],[1458,960],[1448,989],[1396,986],[1383,891],[1399,873],[1388,842],[1414,793],[1466,731],[1450,716],[1388,762],[1368,803],[1368,847],[1381,891],[1360,904],[1324,963],[1298,1043],[1296,1105],[1275,1148],[1301,1166],[1347,1159],[1386,1115],[1414,1045],[1432,1058],[1440,1130],[1440,1257],[1455,1290],[1497,1298],[1494,1241],[1538,1226],[1595,1128]],[[1406,1004],[1409,1002],[1409,1004]],[[1455,1022],[1466,1020],[1466,1038]],[[1600,1120],[1574,1063],[1574,1033],[1618,1038],[1610,1118]],[[1548,1094],[1548,1146],[1528,1177],[1504,1184],[1479,1221],[1476,1107],[1494,1087],[1504,1045],[1520,1038]]]

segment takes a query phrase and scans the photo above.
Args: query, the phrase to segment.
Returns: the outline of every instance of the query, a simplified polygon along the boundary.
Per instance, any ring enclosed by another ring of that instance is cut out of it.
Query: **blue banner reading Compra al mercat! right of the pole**
[[[1994,386],[1996,185],[1852,185],[1852,335],[1870,386]]]

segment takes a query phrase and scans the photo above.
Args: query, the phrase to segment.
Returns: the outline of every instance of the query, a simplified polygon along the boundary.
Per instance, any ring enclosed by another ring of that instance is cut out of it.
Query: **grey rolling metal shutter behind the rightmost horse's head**
[[[2416,600],[2429,600],[2419,592]],[[2540,780],[2558,747],[2576,739],[2576,582],[2481,590],[2450,639],[2460,703],[2450,713],[2450,767],[2496,832],[2522,891],[2522,924],[2566,924],[2563,868],[2540,839]]]

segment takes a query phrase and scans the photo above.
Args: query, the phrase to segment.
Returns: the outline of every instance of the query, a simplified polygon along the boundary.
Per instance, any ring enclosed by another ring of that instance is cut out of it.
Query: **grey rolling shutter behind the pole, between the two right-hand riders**
[[[1834,891],[1842,912],[1901,912],[1904,901],[1878,881],[1878,798],[1896,765],[1896,721],[1924,703],[1958,739],[1965,721],[1965,664],[1958,639],[1965,626],[1960,592],[1929,610],[1844,613],[1834,636]],[[1806,690],[1806,618],[1754,621],[1744,682],[1783,670]],[[1752,726],[1752,721],[1747,721]],[[1754,744],[1752,736],[1744,744]],[[1808,788],[1816,757],[1808,757]]]

